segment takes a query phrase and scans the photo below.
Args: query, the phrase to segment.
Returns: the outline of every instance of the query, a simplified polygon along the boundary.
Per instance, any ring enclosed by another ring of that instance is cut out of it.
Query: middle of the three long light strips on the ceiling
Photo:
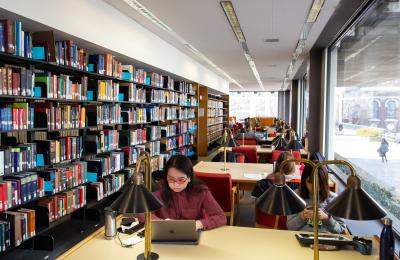
[[[225,16],[228,19],[228,22],[232,28],[233,33],[236,36],[240,46],[243,49],[244,56],[246,57],[247,62],[254,74],[254,77],[257,80],[258,85],[262,90],[264,90],[264,85],[261,81],[260,74],[258,73],[256,64],[254,62],[253,57],[251,56],[250,50],[246,43],[246,38],[244,37],[244,33],[242,28],[240,27],[239,19],[237,18],[235,9],[233,8],[233,4],[231,1],[221,1],[220,2],[222,9],[224,10]]]

